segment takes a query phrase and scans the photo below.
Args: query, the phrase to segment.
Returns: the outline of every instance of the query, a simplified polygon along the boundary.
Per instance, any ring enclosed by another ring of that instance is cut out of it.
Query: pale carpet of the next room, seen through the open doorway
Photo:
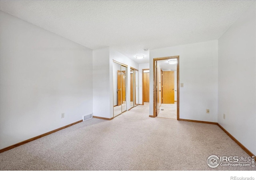
[[[177,119],[177,102],[174,102],[174,104],[161,104],[157,116],[160,118]]]

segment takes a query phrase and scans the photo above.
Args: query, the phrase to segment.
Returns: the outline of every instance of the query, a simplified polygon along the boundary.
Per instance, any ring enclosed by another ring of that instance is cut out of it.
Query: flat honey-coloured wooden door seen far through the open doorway
[[[174,71],[163,71],[163,104],[174,104]]]

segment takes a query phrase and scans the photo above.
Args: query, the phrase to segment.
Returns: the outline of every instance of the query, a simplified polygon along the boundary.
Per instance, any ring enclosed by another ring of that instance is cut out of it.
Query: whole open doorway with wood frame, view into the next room
[[[179,120],[179,56],[153,59],[153,116]]]

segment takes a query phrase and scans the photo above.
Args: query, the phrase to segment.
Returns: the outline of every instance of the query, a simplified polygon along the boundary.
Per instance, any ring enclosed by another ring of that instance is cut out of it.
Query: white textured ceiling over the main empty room
[[[0,0],[0,10],[138,63],[151,49],[216,40],[254,0]],[[144,52],[144,48],[148,48]],[[137,60],[137,54],[144,54]]]

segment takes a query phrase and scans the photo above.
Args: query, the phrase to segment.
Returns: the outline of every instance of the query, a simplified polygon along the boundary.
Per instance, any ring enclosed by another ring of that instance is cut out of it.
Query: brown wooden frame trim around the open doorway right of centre
[[[177,58],[177,120],[180,120],[180,56],[169,56],[153,59],[153,116],[151,117],[156,117],[156,61],[174,58]]]

